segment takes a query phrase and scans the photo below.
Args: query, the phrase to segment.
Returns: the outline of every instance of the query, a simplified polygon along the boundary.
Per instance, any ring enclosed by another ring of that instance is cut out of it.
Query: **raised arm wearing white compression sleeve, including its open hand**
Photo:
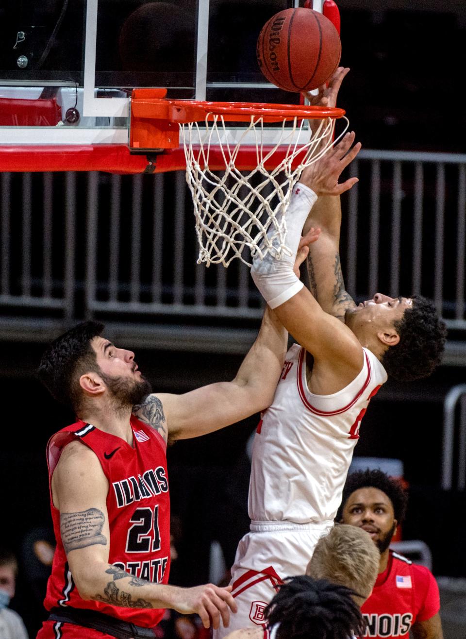
[[[283,325],[315,360],[313,392],[329,394],[343,388],[362,368],[361,344],[353,332],[336,318],[323,311],[315,298],[295,277],[292,269],[300,233],[309,209],[317,196],[339,195],[350,189],[357,178],[338,183],[343,169],[357,155],[360,144],[354,134],[347,134],[339,144],[306,171],[293,191],[287,215],[286,243],[291,258],[256,259],[252,277],[268,304],[276,311]],[[321,233],[322,235],[322,233]],[[320,239],[319,239],[320,242]],[[317,372],[318,371],[318,372]]]

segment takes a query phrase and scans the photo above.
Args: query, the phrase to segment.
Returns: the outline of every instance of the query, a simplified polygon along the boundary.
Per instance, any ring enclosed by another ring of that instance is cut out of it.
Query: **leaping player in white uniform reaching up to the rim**
[[[329,102],[345,74],[342,68],[336,72]],[[422,377],[443,350],[444,324],[428,300],[377,293],[358,306],[353,302],[339,268],[339,221],[336,233],[325,210],[312,247],[320,260],[313,278],[320,286],[318,301],[293,273],[301,232],[318,197],[339,196],[357,182],[338,183],[361,148],[351,148],[354,139],[347,134],[303,171],[293,189],[286,213],[290,256],[254,259],[256,286],[301,346],[288,351],[274,402],[254,439],[251,532],[240,541],[231,569],[238,613],[229,631],[263,624],[276,586],[303,572],[319,537],[332,526],[362,416],[387,379],[385,368],[402,379]],[[227,634],[220,629],[214,638]]]

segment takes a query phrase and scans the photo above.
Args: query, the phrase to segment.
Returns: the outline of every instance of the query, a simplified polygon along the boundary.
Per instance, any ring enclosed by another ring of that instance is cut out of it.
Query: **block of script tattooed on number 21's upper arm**
[[[61,512],[60,534],[65,552],[95,544],[106,546],[107,537],[102,535],[104,523],[105,515],[97,508],[82,512]]]

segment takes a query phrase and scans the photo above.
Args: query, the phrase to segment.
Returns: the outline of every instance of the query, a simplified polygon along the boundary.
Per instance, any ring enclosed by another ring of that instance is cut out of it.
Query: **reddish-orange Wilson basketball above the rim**
[[[273,15],[257,41],[257,59],[269,82],[285,91],[311,91],[327,82],[341,58],[338,31],[312,9]]]

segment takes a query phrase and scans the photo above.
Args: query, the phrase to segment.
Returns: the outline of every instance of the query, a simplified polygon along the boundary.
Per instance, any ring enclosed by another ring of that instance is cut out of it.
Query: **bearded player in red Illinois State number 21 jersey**
[[[156,636],[162,608],[198,613],[205,627],[228,626],[229,610],[236,610],[228,588],[166,585],[166,444],[267,407],[286,332],[266,311],[233,381],[178,396],[150,394],[134,353],[102,337],[103,328],[93,321],[72,328],[40,364],[51,394],[79,420],[47,448],[57,548],[45,599],[50,617],[38,637]]]

